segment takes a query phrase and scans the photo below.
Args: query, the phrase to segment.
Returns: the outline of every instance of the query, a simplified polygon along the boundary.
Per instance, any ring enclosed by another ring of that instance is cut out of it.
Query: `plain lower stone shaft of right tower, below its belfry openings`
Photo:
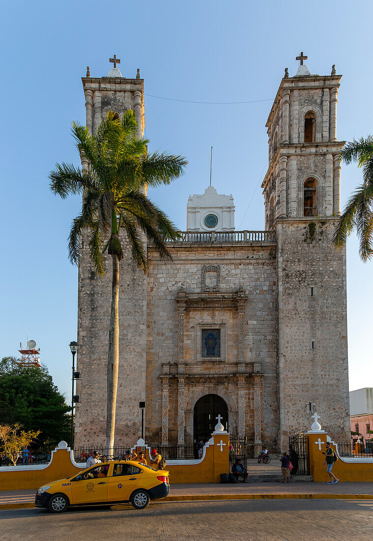
[[[311,422],[309,403],[336,440],[349,439],[345,250],[334,217],[277,223],[280,438]]]

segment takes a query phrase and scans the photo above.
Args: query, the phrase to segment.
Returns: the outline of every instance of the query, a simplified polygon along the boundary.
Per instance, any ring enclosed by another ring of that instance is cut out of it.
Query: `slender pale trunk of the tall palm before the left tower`
[[[108,408],[106,413],[105,447],[114,447],[115,411],[119,368],[119,258],[112,254],[112,291],[108,352]]]

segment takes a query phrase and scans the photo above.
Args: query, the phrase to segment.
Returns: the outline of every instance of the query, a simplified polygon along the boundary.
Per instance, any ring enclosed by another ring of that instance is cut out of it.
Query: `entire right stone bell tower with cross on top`
[[[332,244],[340,209],[339,81],[311,75],[303,52],[267,121],[265,228],[276,230],[279,441],[309,426],[317,405],[337,439],[349,433],[345,250]]]

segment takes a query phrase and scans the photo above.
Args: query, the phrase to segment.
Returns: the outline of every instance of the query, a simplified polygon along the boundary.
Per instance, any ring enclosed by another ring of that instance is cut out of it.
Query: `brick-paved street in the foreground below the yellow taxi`
[[[367,500],[250,500],[74,509],[0,511],[4,541],[357,541],[372,539]]]

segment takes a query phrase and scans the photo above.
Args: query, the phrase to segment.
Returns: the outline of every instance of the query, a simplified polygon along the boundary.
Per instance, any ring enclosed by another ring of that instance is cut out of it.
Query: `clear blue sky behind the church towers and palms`
[[[359,9],[358,9],[359,8]],[[84,123],[81,77],[102,77],[109,57],[121,58],[123,76],[140,68],[145,80],[150,149],[183,154],[185,176],[149,190],[181,229],[189,194],[209,183],[232,193],[236,229],[263,229],[260,184],[268,159],[265,122],[271,101],[236,105],[183,103],[271,100],[284,68],[294,75],[300,51],[313,74],[343,74],[337,135],[351,141],[372,133],[373,5],[343,1],[308,5],[249,2],[17,2],[2,6],[0,55],[2,115],[2,310],[0,354],[15,355],[35,339],[42,361],[69,400],[76,339],[77,269],[66,238],[79,212],[78,197],[58,200],[48,188],[57,161],[79,164],[71,121]],[[342,204],[361,181],[355,166],[342,169]],[[250,200],[251,204],[249,206]],[[249,206],[249,208],[248,208]],[[350,388],[373,386],[370,332],[373,262],[348,242]]]

